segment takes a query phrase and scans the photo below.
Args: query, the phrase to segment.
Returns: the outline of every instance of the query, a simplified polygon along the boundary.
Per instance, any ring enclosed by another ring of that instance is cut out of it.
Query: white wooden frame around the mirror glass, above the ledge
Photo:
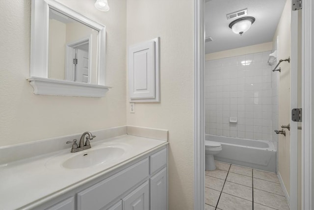
[[[106,35],[105,26],[77,13],[76,11],[66,7],[65,5],[54,1],[54,0],[32,0],[31,1],[31,36],[30,36],[30,80],[32,78],[43,78],[46,82],[50,80],[48,78],[48,45],[49,45],[49,9],[52,8],[68,17],[71,17],[78,22],[99,31],[98,40],[98,84],[100,89],[105,86],[105,46],[106,46]],[[37,80],[38,81],[38,80]],[[51,81],[55,83],[55,81]],[[95,86],[94,85],[94,86]],[[71,86],[68,83],[68,86]],[[34,86],[33,86],[34,87]],[[45,92],[46,90],[40,91],[39,89],[44,86],[37,86],[37,92]],[[48,86],[46,86],[47,88]],[[83,86],[74,85],[74,87]],[[87,86],[86,86],[87,87]],[[62,87],[59,87],[62,88]],[[67,90],[64,90],[67,91]],[[53,94],[52,91],[50,91]],[[88,90],[86,91],[88,92]],[[36,93],[35,93],[36,94]],[[38,94],[38,93],[37,93]],[[59,95],[59,93],[55,93]],[[85,95],[88,96],[88,95]],[[91,96],[94,97],[94,96]]]

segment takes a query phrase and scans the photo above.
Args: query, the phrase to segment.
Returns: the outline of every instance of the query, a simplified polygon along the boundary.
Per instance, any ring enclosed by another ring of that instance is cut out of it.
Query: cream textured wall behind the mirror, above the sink
[[[104,98],[34,95],[29,77],[30,0],[0,0],[0,146],[126,124],[126,0],[58,0],[106,26]]]

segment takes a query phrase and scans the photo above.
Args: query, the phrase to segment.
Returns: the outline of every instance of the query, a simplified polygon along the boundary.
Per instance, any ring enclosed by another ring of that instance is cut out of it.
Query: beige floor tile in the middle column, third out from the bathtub
[[[236,184],[233,182],[226,181],[222,192],[234,195],[239,198],[243,198],[249,201],[253,201],[252,198],[252,187],[243,186],[241,184]]]

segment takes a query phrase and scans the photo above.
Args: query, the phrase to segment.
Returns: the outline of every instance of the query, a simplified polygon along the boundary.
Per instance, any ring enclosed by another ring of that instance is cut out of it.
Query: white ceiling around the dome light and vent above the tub
[[[213,39],[205,43],[206,54],[272,41],[285,3],[286,0],[206,0],[205,36]],[[245,8],[245,16],[256,20],[248,31],[235,34],[229,24],[237,18],[227,20],[226,15]]]

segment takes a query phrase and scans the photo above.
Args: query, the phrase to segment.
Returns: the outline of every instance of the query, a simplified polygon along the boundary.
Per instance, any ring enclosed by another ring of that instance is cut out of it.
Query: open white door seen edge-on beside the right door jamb
[[[301,108],[301,24],[302,10],[291,11],[291,81],[290,81],[290,209],[301,210],[301,122],[292,120],[291,110]]]

